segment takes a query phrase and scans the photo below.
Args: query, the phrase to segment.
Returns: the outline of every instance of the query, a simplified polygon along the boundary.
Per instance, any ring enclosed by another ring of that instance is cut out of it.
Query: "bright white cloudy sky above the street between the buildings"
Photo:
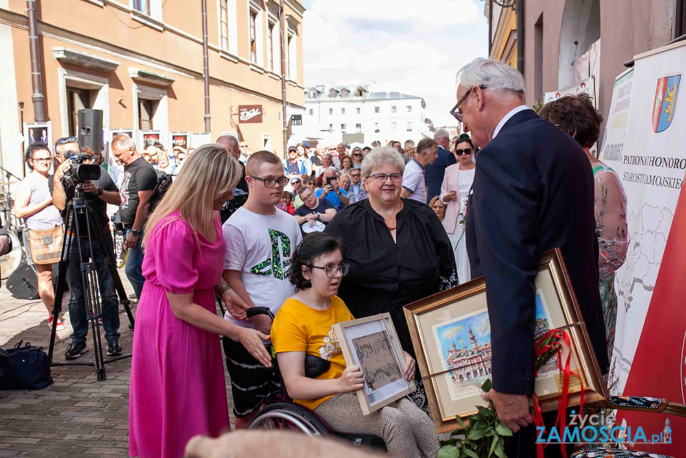
[[[484,0],[303,0],[305,86],[376,82],[454,125],[455,75],[488,54]]]

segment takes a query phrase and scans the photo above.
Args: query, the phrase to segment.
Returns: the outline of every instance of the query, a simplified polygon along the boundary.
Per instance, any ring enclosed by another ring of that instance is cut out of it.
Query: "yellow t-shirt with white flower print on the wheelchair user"
[[[331,307],[315,310],[297,299],[286,299],[272,324],[272,345],[276,353],[305,352],[329,360],[331,367],[317,378],[332,380],[339,378],[345,370],[345,358],[341,352],[338,338],[333,332],[335,323],[355,319],[345,303],[338,296],[331,297]],[[326,396],[316,400],[294,401],[314,409]]]

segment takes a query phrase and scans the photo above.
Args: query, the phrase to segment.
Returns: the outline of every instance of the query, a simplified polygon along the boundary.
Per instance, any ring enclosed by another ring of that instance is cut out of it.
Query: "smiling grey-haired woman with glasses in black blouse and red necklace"
[[[343,240],[348,275],[338,295],[355,318],[389,312],[403,350],[414,347],[403,306],[457,286],[450,241],[428,205],[401,199],[405,163],[397,150],[374,148],[362,161],[368,198],[338,212],[327,233]],[[421,375],[412,395],[427,409]]]

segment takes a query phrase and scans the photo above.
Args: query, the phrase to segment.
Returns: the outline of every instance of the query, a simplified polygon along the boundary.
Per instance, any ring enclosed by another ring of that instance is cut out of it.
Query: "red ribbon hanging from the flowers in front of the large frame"
[[[553,338],[553,340],[548,343],[547,345],[540,345],[539,342],[546,341],[550,337]],[[564,343],[567,345],[567,348],[569,348],[569,354],[567,354],[567,359],[565,360],[565,368],[563,369],[563,364],[562,364],[562,350],[563,350],[563,345],[560,345],[558,341],[564,341]],[[557,344],[557,345],[555,345]],[[560,392],[560,396],[558,397],[558,415],[555,420],[555,424],[553,426],[558,426],[558,433],[560,434],[560,439],[564,437],[565,433],[565,424],[566,424],[566,419],[567,419],[567,400],[569,399],[569,377],[571,375],[576,376],[579,378],[579,381],[581,383],[581,391],[580,391],[580,406],[579,406],[579,413],[582,413],[584,410],[584,381],[582,378],[579,376],[579,374],[576,374],[576,372],[571,371],[569,369],[569,365],[571,363],[571,341],[569,340],[569,334],[567,334],[567,331],[561,330],[561,329],[552,329],[543,334],[537,341],[535,348],[535,356],[541,356],[542,354],[545,354],[548,350],[554,349],[555,352],[557,353],[557,367],[560,369],[560,374],[564,373],[564,378],[563,378],[563,389],[562,392]],[[538,375],[538,371],[536,371],[536,376]],[[534,424],[536,427],[543,427],[544,432],[545,432],[545,425],[543,424],[543,413],[541,413],[541,404],[539,402],[538,396],[536,396],[536,393],[534,393],[533,396],[534,400]],[[538,431],[538,430],[536,430]],[[560,440],[562,442],[562,440]],[[536,455],[539,458],[543,458],[543,448],[547,447],[547,444],[544,446],[541,444],[541,442],[536,442]],[[567,456],[567,450],[565,448],[565,444],[560,444],[560,448],[562,449],[563,456]]]

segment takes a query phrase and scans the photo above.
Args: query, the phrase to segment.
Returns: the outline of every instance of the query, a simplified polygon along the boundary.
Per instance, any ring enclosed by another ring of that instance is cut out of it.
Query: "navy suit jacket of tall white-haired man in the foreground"
[[[493,388],[534,392],[537,257],[562,250],[600,369],[608,369],[598,291],[593,172],[580,146],[534,111],[517,113],[476,158],[467,203],[472,277],[484,275]]]

